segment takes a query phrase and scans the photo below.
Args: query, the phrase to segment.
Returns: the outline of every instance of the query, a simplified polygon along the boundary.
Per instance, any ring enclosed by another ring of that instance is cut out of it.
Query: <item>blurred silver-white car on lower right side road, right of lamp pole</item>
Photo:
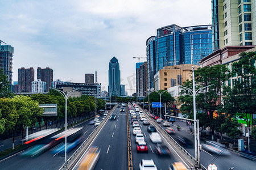
[[[201,144],[203,149],[212,152],[213,154],[220,154],[220,155],[230,155],[230,152],[226,149],[225,145],[215,141],[206,141],[206,143]]]

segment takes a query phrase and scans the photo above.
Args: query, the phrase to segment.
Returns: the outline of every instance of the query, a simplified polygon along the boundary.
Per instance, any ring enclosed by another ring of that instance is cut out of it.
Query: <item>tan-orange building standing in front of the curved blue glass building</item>
[[[170,87],[182,85],[187,79],[192,79],[192,66],[197,69],[198,65],[166,66],[155,74],[155,91],[168,90]]]

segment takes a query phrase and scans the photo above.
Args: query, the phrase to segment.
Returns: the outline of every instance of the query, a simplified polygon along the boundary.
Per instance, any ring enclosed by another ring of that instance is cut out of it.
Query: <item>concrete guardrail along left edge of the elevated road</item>
[[[88,138],[85,139],[84,142],[82,142],[82,144],[79,146],[79,148],[77,148],[77,150],[71,155],[71,157],[69,157],[69,159],[67,160],[67,165],[64,163],[59,170],[61,169],[71,169],[73,168],[73,166],[75,165],[75,163],[77,162],[77,159],[82,155],[82,152],[85,151],[88,146],[90,145],[90,142],[93,140],[92,137],[95,137],[96,134],[98,133],[98,131],[101,130],[101,128],[105,125],[106,121],[109,119],[110,115],[113,113],[114,109],[117,107],[117,105],[115,105],[113,107],[113,109],[108,113],[108,115],[106,116],[106,118],[101,122],[100,125],[97,126],[97,128],[95,128],[92,133],[89,135]]]

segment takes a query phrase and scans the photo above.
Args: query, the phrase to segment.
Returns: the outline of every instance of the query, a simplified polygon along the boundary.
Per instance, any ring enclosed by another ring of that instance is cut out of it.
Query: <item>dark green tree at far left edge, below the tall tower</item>
[[[3,73],[3,69],[0,69],[0,98],[13,96],[14,94],[11,92],[8,76]]]

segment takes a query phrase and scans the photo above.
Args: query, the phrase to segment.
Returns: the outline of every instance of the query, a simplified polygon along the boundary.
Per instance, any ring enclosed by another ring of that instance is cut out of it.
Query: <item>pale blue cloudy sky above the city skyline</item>
[[[0,11],[0,40],[14,47],[14,81],[20,67],[34,67],[35,79],[37,67],[50,67],[53,80],[77,83],[97,71],[108,91],[115,56],[129,95],[136,89],[133,57],[146,57],[156,29],[212,24],[210,0],[0,0]]]

